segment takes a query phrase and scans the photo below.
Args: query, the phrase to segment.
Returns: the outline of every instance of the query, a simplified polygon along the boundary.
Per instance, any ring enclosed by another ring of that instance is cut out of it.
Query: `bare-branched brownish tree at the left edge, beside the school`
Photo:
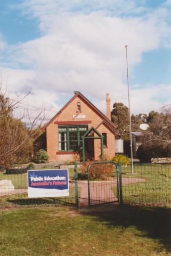
[[[13,117],[14,110],[19,108],[28,94],[10,99],[6,97],[6,91],[3,93],[0,88],[0,166],[4,169],[16,163],[23,163],[33,152],[33,142],[45,118],[42,109],[31,120],[27,108],[24,113],[27,113],[29,126],[26,127],[23,122],[24,114],[20,118]]]

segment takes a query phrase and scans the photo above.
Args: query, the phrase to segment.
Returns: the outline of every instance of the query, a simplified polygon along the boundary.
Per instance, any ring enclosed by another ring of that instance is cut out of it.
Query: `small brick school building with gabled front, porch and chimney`
[[[117,126],[78,91],[46,124],[46,148],[50,161],[99,160],[115,156]]]

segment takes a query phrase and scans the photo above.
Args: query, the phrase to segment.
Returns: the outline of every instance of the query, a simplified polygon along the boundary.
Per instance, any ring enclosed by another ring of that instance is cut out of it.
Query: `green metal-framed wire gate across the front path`
[[[121,168],[113,161],[91,163],[87,168],[88,206],[121,203],[120,175]]]

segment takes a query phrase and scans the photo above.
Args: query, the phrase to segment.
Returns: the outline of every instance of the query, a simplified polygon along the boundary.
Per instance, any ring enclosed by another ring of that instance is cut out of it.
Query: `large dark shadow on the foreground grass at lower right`
[[[106,205],[85,212],[106,221],[106,225],[143,231],[142,237],[159,239],[167,251],[171,250],[171,209],[128,205]],[[141,235],[140,235],[141,236]]]

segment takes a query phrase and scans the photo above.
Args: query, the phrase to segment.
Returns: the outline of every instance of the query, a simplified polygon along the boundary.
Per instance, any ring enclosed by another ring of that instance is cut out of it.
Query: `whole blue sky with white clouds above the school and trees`
[[[171,0],[2,0],[0,70],[9,97],[47,109],[47,119],[78,90],[105,113],[160,111],[171,101]],[[33,111],[34,113],[34,111]],[[34,115],[34,114],[33,114]]]

